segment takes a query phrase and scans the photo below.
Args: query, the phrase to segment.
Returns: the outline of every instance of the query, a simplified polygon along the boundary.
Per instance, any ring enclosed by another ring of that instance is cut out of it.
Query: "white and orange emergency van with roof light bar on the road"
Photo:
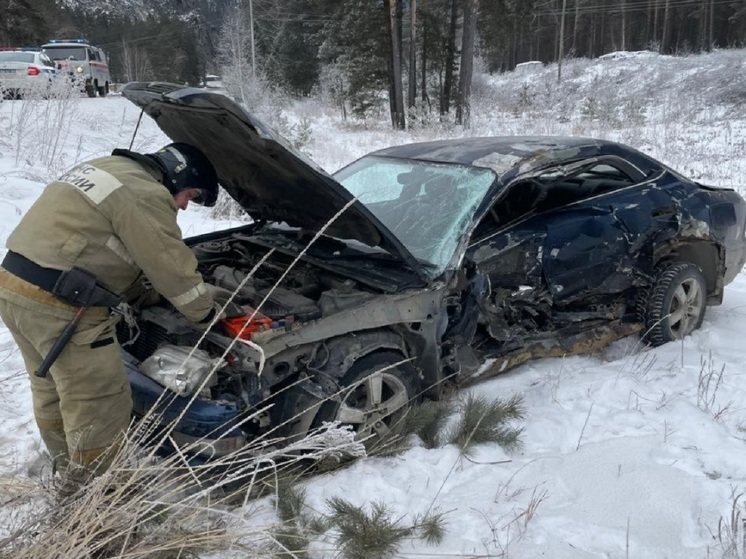
[[[111,77],[106,54],[85,39],[52,39],[42,46],[61,74],[88,97],[104,97],[109,93]]]

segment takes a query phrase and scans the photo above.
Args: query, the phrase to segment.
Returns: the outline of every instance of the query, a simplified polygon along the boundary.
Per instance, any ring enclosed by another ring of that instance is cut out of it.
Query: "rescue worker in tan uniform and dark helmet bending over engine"
[[[209,325],[218,312],[176,221],[190,201],[212,206],[217,193],[215,169],[191,145],[151,154],[117,149],[50,183],[8,237],[0,317],[28,370],[41,438],[68,477],[108,468],[107,449],[130,421],[130,386],[115,335],[119,316],[97,305],[111,304],[112,295],[116,301],[142,294],[147,278],[198,325]],[[58,293],[61,275],[74,269],[95,276],[92,298],[40,378],[34,373],[76,315]]]

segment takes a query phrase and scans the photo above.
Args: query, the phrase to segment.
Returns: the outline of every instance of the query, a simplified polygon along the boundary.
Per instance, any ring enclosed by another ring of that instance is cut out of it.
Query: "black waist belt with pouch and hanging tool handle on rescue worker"
[[[49,291],[59,300],[76,307],[75,316],[65,326],[42,361],[39,369],[34,373],[44,378],[54,362],[65,349],[70,338],[75,334],[80,319],[89,307],[116,307],[122,302],[122,297],[112,293],[96,283],[96,276],[81,268],[72,270],[53,270],[39,266],[16,252],[8,251],[2,262],[2,267],[11,274],[18,276],[44,291]]]

